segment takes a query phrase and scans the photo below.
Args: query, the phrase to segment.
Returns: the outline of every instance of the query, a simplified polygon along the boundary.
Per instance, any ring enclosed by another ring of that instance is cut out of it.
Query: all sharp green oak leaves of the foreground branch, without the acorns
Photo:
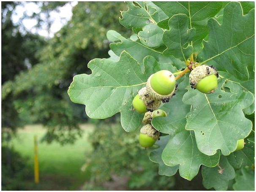
[[[167,136],[156,142],[150,159],[159,164],[159,174],[172,176],[179,169],[188,180],[202,165],[204,186],[226,190],[235,169],[253,164],[253,124],[245,116],[254,112],[253,14],[251,3],[128,2],[119,21],[135,34],[125,38],[109,31],[110,58],[90,61],[92,74],[76,75],[69,96],[93,118],[120,112],[123,128],[133,131],[143,117],[132,110],[133,97],[151,74],[172,71],[178,89],[160,107],[168,116],[152,120]],[[191,89],[185,74],[190,59],[217,67],[215,93]],[[234,152],[237,140],[246,137],[245,148]]]

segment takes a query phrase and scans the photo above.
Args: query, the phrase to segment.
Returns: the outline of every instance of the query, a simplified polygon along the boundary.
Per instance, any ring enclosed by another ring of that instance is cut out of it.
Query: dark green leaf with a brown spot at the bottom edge
[[[229,180],[234,179],[234,168],[225,156],[221,156],[218,166],[202,167],[203,185],[206,189],[227,190]]]

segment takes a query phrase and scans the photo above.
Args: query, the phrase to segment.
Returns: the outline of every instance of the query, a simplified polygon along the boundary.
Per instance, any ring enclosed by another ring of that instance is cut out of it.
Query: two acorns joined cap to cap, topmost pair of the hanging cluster
[[[161,103],[169,102],[177,86],[174,75],[168,70],[150,75],[146,87],[140,89],[132,101],[134,109],[139,113],[153,112]]]

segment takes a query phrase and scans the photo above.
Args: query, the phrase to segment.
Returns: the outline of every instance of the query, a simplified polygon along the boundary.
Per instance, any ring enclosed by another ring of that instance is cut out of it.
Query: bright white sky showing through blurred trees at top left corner
[[[63,25],[67,23],[68,20],[72,17],[72,7],[77,4],[77,1],[71,2],[71,4],[67,3],[65,6],[59,8],[60,13],[57,13],[56,11],[52,11],[50,13],[51,19],[54,19],[54,23],[52,24],[52,27],[50,29],[50,33],[44,29],[36,31],[36,29],[33,29],[33,27],[36,24],[36,21],[33,19],[24,19],[22,22],[24,26],[27,28],[27,30],[36,33],[38,32],[39,35],[42,35],[44,37],[53,37],[54,33],[59,31]],[[16,23],[19,21],[19,18],[23,16],[23,13],[27,13],[27,15],[31,16],[33,12],[39,13],[40,9],[35,3],[27,2],[25,3],[25,6],[19,5],[16,7],[16,14],[13,14],[12,19],[13,22]]]

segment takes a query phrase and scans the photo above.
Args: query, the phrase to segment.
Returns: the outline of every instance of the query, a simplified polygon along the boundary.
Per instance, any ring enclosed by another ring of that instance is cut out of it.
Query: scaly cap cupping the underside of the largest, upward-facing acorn
[[[150,80],[151,80],[151,77],[153,76],[154,74],[150,75],[150,77],[147,79],[147,85],[146,85],[146,88],[147,88],[147,94],[154,98],[155,100],[157,101],[163,101],[163,102],[168,102],[170,98],[172,98],[172,96],[174,95],[174,92],[176,91],[176,88],[173,89],[172,93],[168,94],[168,95],[161,95],[157,92],[155,92],[153,90],[153,88],[151,87],[150,85]]]

